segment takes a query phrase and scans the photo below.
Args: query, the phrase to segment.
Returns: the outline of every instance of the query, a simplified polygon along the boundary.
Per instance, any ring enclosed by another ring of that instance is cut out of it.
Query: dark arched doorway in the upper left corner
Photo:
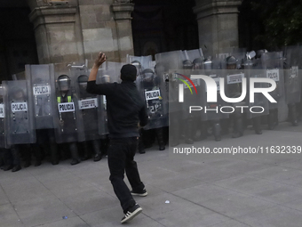
[[[0,0],[0,80],[10,80],[25,64],[38,63],[33,24],[26,1]]]

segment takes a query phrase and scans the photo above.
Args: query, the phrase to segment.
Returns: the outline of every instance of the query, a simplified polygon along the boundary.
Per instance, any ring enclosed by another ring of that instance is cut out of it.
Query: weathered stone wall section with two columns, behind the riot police
[[[131,11],[133,4],[114,0],[69,0],[47,4],[28,0],[34,23],[39,62],[69,63],[85,59],[91,67],[97,54],[108,61],[125,61],[133,54]]]

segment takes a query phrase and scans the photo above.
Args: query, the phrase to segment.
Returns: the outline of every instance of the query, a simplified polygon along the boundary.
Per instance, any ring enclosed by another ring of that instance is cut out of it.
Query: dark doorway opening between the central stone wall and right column
[[[198,49],[195,0],[133,0],[132,34],[136,56]]]

